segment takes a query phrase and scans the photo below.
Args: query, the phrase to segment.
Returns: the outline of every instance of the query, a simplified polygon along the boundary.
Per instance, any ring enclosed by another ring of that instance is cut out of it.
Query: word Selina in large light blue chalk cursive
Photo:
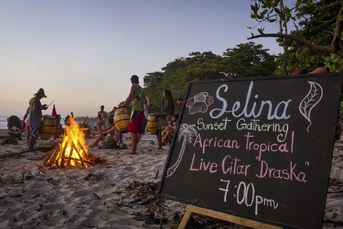
[[[227,92],[228,86],[226,84],[221,85],[217,89],[216,97],[218,100],[223,102],[223,107],[221,109],[219,109],[219,108],[212,109],[209,112],[209,115],[211,116],[211,118],[219,118],[224,113],[232,113],[232,116],[234,116],[236,118],[241,117],[241,116],[244,116],[246,118],[250,118],[250,117],[258,118],[258,117],[260,117],[264,107],[268,107],[268,115],[267,115],[268,120],[271,120],[271,119],[289,119],[290,118],[290,115],[287,115],[286,112],[287,112],[287,107],[289,105],[289,102],[292,101],[291,99],[277,103],[276,107],[273,107],[273,104],[270,100],[267,100],[267,101],[262,100],[261,104],[259,105],[259,108],[256,108],[256,106],[258,106],[257,102],[253,102],[251,110],[248,111],[248,105],[249,105],[249,100],[251,97],[252,87],[253,87],[253,81],[250,82],[247,97],[245,99],[245,105],[244,105],[243,110],[240,112],[239,111],[241,108],[241,102],[240,101],[235,101],[232,105],[231,110],[226,110],[227,101],[225,98],[221,97],[219,95],[219,93],[222,91],[222,89],[224,89],[224,92]],[[228,96],[226,96],[226,97],[228,97]],[[254,95],[254,98],[255,99],[259,98],[259,95],[257,95],[257,94]],[[251,107],[251,106],[249,106],[249,107]],[[279,112],[279,109],[280,109],[280,111],[282,111],[282,113]],[[219,113],[217,115],[215,115],[214,113],[217,111],[219,111]],[[257,113],[256,113],[256,111],[257,111]],[[280,113],[281,113],[281,116],[278,115]]]

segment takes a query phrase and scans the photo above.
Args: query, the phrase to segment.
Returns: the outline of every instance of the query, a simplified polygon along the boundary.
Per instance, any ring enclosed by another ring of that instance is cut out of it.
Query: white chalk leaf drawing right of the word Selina
[[[305,96],[302,102],[299,104],[299,111],[300,113],[310,122],[309,126],[307,127],[307,132],[310,133],[309,127],[311,126],[311,110],[314,108],[317,103],[320,101],[321,97],[323,97],[323,88],[316,82],[308,81],[311,85],[309,93]]]

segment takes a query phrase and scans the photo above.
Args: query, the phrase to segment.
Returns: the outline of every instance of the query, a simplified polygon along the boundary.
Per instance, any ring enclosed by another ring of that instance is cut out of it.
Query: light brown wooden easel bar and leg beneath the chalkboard
[[[183,216],[182,221],[179,224],[178,229],[185,229],[186,228],[187,223],[188,223],[188,221],[189,221],[189,219],[193,213],[197,213],[197,214],[204,215],[204,216],[210,216],[210,217],[213,217],[216,219],[225,220],[228,222],[240,224],[243,226],[248,226],[248,227],[255,228],[255,229],[283,229],[282,227],[279,227],[279,226],[273,226],[270,224],[257,222],[257,221],[253,221],[250,219],[241,218],[238,216],[232,216],[232,215],[224,214],[221,212],[212,211],[209,209],[203,209],[202,207],[197,207],[197,206],[193,206],[193,205],[187,205],[186,213]]]

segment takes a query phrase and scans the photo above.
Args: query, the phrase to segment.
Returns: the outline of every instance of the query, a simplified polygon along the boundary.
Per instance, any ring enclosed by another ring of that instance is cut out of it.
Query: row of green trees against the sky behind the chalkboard
[[[192,52],[169,62],[162,72],[147,73],[144,87],[152,105],[162,101],[162,91],[169,89],[176,100],[183,97],[188,82],[235,77],[267,76],[276,69],[275,56],[253,42],[227,49],[223,56],[208,52]]]

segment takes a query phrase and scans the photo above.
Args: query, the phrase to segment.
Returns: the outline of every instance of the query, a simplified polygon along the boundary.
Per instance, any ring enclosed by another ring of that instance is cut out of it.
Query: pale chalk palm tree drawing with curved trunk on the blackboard
[[[167,175],[165,177],[170,177],[176,171],[176,169],[178,168],[182,160],[183,153],[185,152],[186,142],[192,143],[192,138],[196,136],[197,134],[198,132],[196,130],[195,124],[190,124],[190,125],[188,125],[187,123],[181,124],[179,128],[179,132],[178,132],[178,138],[177,138],[177,140],[180,141],[183,137],[181,151],[180,151],[178,160],[175,162],[175,164],[173,164],[173,166],[167,169]]]

